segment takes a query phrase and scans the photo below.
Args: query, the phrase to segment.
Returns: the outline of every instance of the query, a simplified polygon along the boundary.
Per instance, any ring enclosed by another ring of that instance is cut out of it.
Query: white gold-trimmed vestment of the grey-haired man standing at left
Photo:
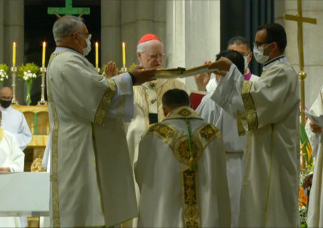
[[[53,227],[111,227],[136,217],[123,116],[131,76],[105,79],[83,55],[56,48],[48,63]]]

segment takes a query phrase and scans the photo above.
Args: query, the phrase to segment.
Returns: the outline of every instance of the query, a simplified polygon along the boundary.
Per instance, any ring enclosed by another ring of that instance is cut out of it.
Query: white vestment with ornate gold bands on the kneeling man
[[[190,140],[197,171],[191,171]],[[220,131],[190,107],[155,123],[140,141],[138,227],[230,227],[230,198]]]

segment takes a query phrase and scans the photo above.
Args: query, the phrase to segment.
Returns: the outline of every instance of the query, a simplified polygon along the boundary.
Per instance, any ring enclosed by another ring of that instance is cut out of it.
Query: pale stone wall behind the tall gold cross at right
[[[284,21],[284,13],[296,15],[297,1],[275,1],[275,22],[286,29],[285,55],[296,72],[299,72],[297,23]],[[323,86],[323,55],[320,48],[323,36],[323,1],[303,1],[303,16],[317,18],[317,25],[303,24],[304,71],[308,75],[305,79],[305,105],[309,108],[319,94],[319,88]]]

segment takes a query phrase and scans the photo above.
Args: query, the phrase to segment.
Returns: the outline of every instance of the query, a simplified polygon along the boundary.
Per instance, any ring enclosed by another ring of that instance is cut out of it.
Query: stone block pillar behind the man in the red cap
[[[101,59],[122,67],[121,42],[126,42],[126,66],[138,64],[137,41],[147,33],[166,40],[166,1],[101,0]],[[166,43],[164,43],[166,45]]]

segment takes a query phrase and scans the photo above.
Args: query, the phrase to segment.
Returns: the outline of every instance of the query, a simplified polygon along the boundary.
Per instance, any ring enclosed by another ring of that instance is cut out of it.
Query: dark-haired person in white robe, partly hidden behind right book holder
[[[216,55],[216,60],[220,57],[228,58],[237,66],[239,72],[244,72],[244,58],[243,55],[237,51],[229,50],[220,52]],[[220,80],[220,78],[221,76],[216,76],[217,80]],[[258,76],[256,78],[251,78],[250,81],[255,79],[258,79]],[[211,96],[212,93],[208,93],[204,96],[201,104],[197,107],[196,112],[204,121],[216,126],[223,135],[231,203],[231,227],[239,227],[240,192],[243,173],[242,159],[246,137],[244,135],[239,136],[237,121],[230,116],[228,112],[225,112],[225,110],[217,105],[216,102],[211,99]]]

